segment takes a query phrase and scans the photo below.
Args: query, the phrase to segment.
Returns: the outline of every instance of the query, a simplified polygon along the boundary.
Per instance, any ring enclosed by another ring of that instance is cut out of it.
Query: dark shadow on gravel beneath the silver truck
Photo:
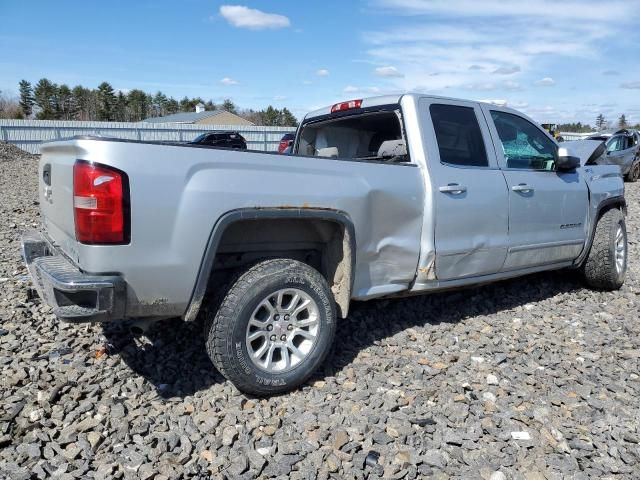
[[[348,367],[361,350],[402,330],[473,322],[479,315],[512,310],[580,288],[582,284],[575,273],[553,272],[448,293],[354,302],[349,317],[338,323],[333,355],[310,382],[334,376]],[[103,329],[109,353],[119,354],[163,398],[193,395],[226,381],[207,356],[201,321],[160,321],[139,338],[130,333],[127,323],[104,324]],[[424,349],[428,352],[429,345]]]

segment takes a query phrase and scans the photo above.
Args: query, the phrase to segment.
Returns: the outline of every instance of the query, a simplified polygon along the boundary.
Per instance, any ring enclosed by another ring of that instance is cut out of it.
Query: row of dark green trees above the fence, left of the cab
[[[38,120],[98,120],[107,122],[139,122],[145,118],[163,117],[179,112],[194,112],[196,105],[205,110],[226,110],[256,125],[294,127],[296,117],[287,109],[269,105],[264,110],[238,108],[231,99],[221,104],[201,97],[176,100],[158,91],[149,94],[139,89],[116,91],[108,82],[97,88],[82,85],[73,88],[41,78],[35,85],[21,80],[19,97],[0,92],[0,118],[35,118]]]

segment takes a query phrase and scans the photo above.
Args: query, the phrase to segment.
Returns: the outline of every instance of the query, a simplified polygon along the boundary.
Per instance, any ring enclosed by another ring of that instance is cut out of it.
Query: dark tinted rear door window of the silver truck
[[[429,107],[440,161],[465,167],[488,167],[487,150],[471,107],[433,104]]]

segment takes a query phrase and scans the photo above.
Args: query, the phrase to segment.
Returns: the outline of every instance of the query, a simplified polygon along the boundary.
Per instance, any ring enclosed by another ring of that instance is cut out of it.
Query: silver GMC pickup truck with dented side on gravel
[[[338,103],[293,155],[77,137],[44,145],[39,175],[22,248],[55,314],[200,314],[213,364],[252,394],[304,382],[351,300],[561,268],[617,289],[627,267],[619,167],[478,102]]]

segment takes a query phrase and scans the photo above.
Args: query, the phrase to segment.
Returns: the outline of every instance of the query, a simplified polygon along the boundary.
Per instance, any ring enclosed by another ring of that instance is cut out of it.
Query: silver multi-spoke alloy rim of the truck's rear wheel
[[[251,362],[268,373],[287,372],[309,356],[316,344],[320,310],[306,292],[284,288],[264,297],[245,335]]]

